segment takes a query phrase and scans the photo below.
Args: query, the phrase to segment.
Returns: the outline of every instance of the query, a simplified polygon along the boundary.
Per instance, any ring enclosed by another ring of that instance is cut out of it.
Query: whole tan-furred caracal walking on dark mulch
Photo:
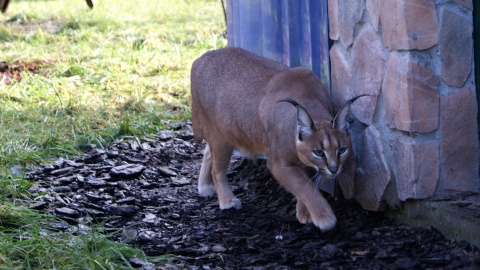
[[[319,171],[331,179],[345,170],[352,156],[346,132],[351,102],[334,120],[328,94],[310,70],[288,68],[237,48],[197,59],[191,92],[195,139],[207,142],[198,182],[201,195],[216,192],[221,209],[241,207],[226,176],[237,149],[268,158],[273,176],[297,197],[301,223],[313,222],[322,231],[335,226],[314,176]]]

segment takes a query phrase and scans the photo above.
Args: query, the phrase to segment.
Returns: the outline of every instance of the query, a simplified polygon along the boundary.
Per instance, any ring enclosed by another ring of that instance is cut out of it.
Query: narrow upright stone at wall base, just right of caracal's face
[[[392,176],[385,160],[382,136],[374,126],[369,126],[361,135],[358,146],[356,199],[366,210],[383,210],[383,197]]]

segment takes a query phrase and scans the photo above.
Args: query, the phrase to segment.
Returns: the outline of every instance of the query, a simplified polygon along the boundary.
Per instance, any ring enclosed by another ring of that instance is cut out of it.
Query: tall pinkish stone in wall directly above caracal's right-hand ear
[[[350,83],[352,95],[371,95],[356,101],[352,111],[360,122],[371,125],[387,60],[382,43],[372,26],[367,26],[358,34],[351,58],[351,69],[356,71],[352,74]]]

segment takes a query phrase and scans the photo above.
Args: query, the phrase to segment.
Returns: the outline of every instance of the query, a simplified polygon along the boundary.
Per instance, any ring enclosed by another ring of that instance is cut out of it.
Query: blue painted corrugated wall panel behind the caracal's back
[[[228,45],[310,68],[330,91],[327,0],[227,0]]]

